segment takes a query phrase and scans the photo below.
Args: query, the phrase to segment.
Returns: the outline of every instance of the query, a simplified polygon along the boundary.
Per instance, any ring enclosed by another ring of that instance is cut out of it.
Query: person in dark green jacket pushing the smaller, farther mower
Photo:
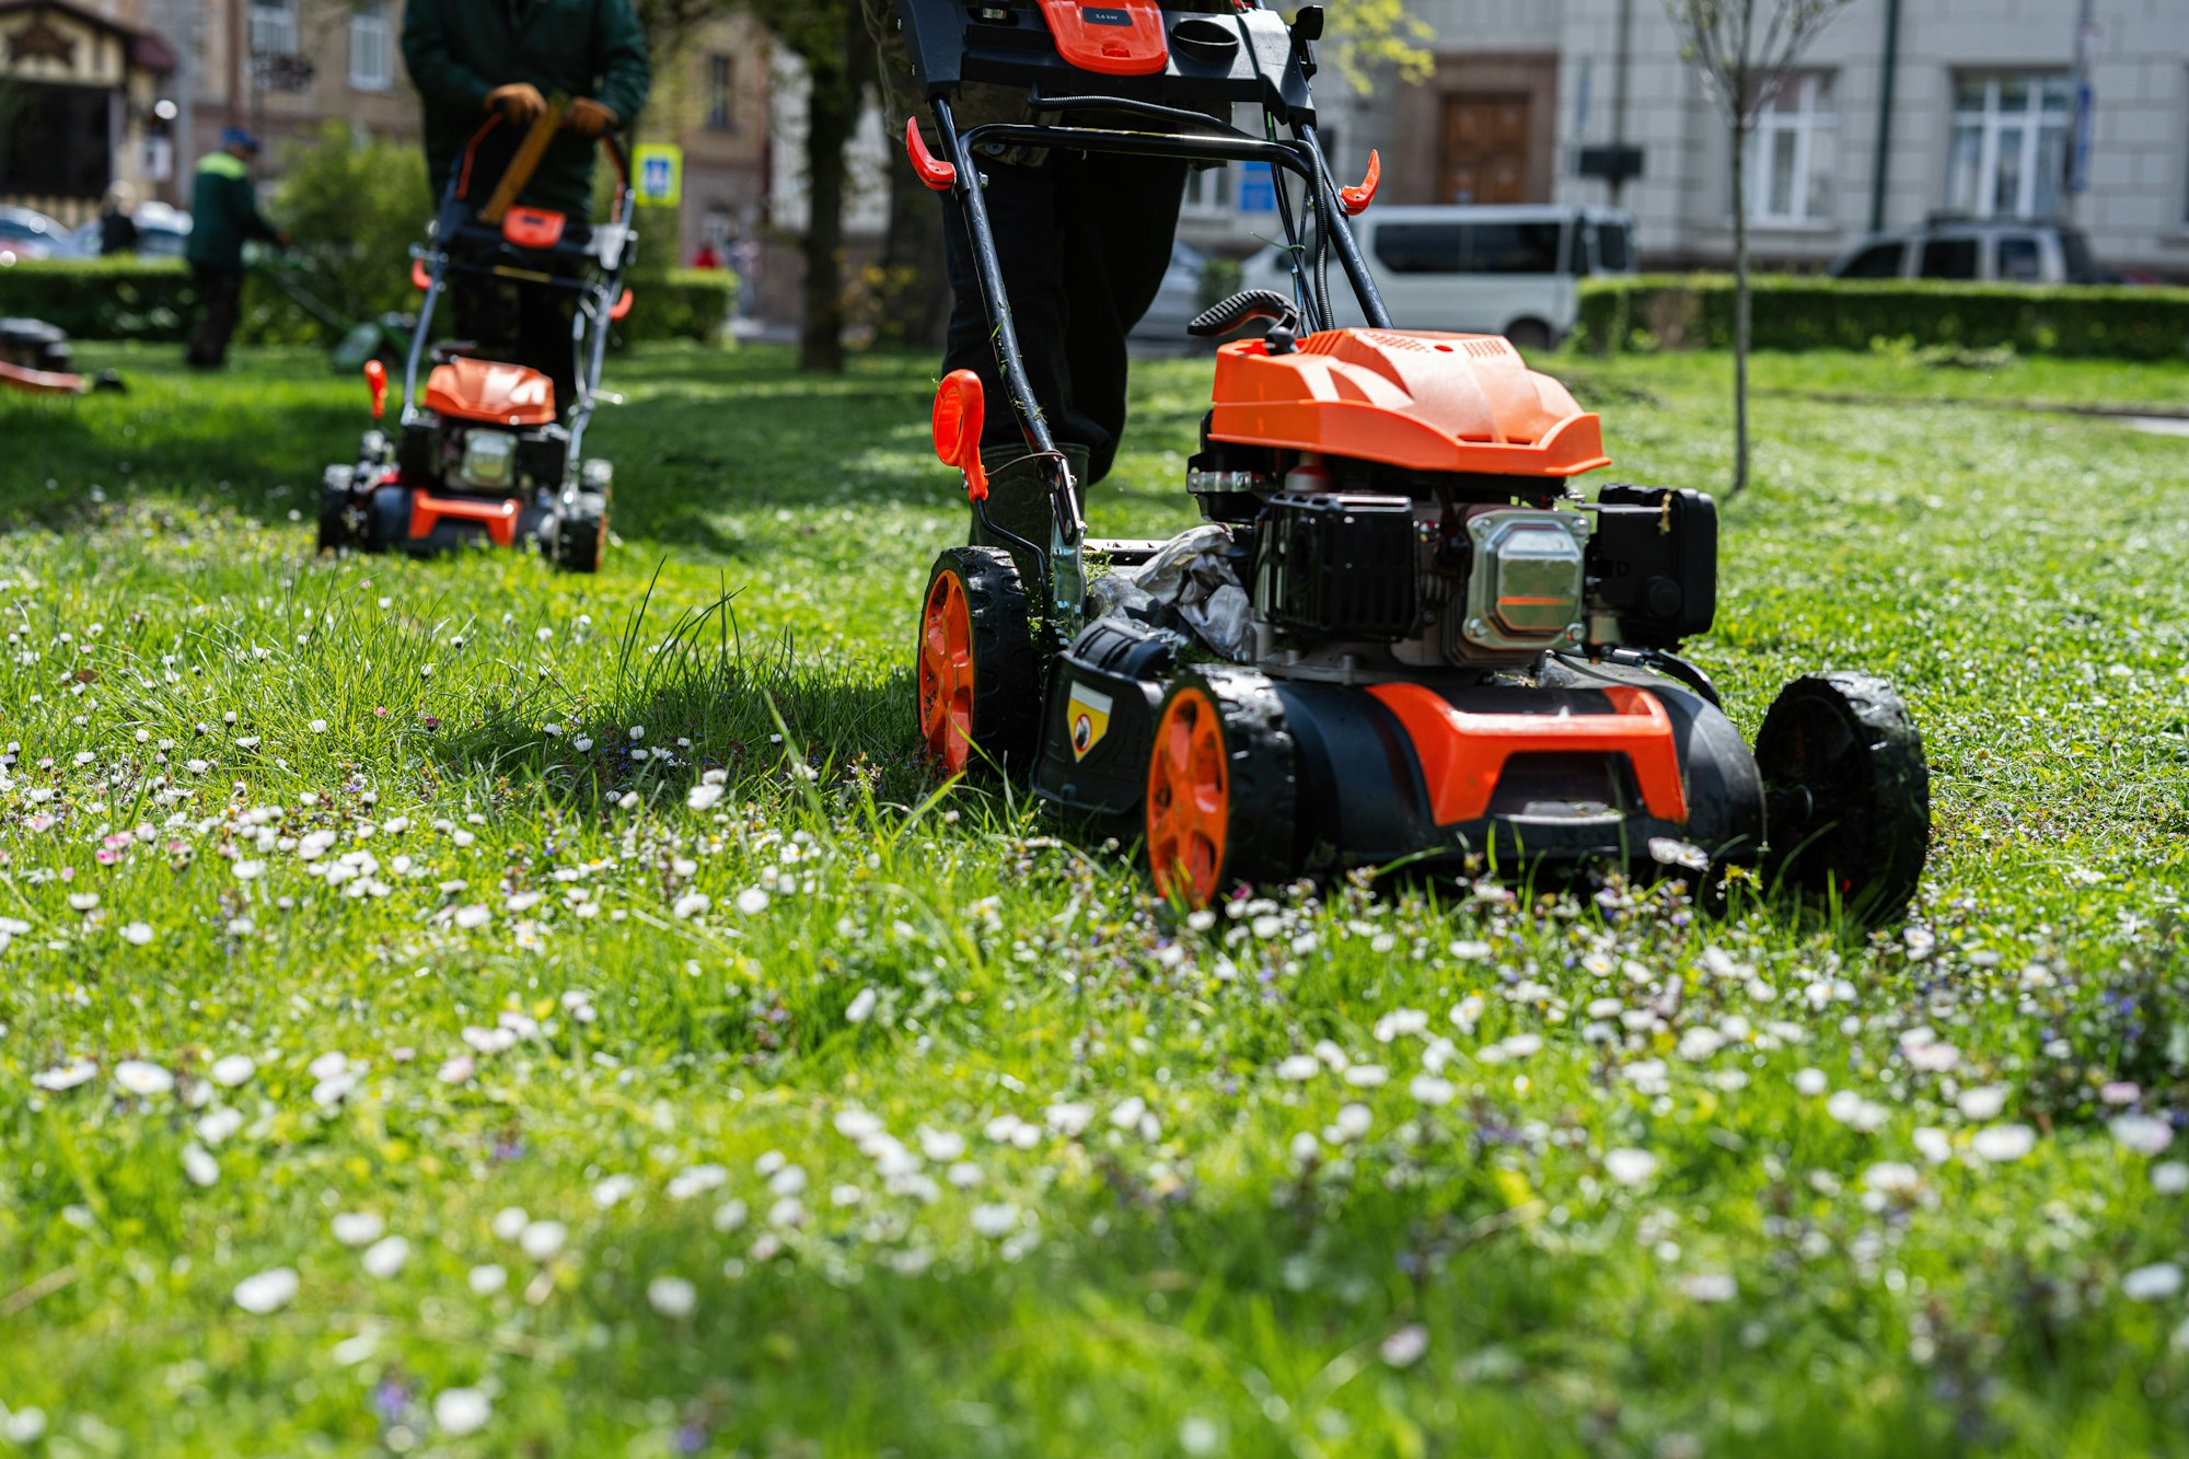
[[[473,158],[475,204],[495,191],[525,129],[552,101],[560,103],[563,134],[519,202],[563,212],[578,230],[593,208],[600,134],[628,129],[652,85],[630,0],[409,0],[403,64],[425,103],[425,162],[436,199],[490,114],[503,125]],[[541,370],[554,381],[556,407],[569,407],[576,383],[569,291],[460,276],[449,302],[464,340]]]

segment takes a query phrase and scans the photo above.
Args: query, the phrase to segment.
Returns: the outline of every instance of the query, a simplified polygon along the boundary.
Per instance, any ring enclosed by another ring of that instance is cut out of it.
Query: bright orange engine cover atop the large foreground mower
[[[1497,335],[1329,329],[1272,355],[1217,351],[1213,440],[1416,471],[1578,475],[1609,467],[1596,414]]]

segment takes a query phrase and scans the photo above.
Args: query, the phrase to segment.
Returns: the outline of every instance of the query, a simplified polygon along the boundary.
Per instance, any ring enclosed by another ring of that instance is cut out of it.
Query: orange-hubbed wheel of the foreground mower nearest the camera
[[[1206,907],[1298,870],[1296,769],[1263,675],[1213,668],[1171,686],[1147,758],[1147,865],[1162,896]]]

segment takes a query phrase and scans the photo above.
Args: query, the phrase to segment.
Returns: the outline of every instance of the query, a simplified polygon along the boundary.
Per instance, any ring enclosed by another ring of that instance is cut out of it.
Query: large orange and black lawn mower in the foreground
[[[1712,499],[1602,486],[1585,502],[1572,480],[1609,460],[1598,418],[1559,381],[1499,337],[1392,329],[1344,221],[1370,204],[1377,160],[1340,188],[1316,138],[1320,9],[1289,28],[1250,4],[1215,18],[1154,0],[897,0],[897,18],[941,136],[935,156],[911,127],[906,149],[965,210],[1053,517],[1046,543],[996,530],[981,379],[948,377],[937,453],[965,473],[983,524],[1044,565],[1046,600],[1005,550],[935,561],[917,710],[943,769],[1000,767],[1075,817],[1127,828],[1158,889],[1195,905],[1410,861],[1692,881],[1742,865],[1872,920],[1907,905],[1929,771],[1891,688],[1795,679],[1749,749],[1672,653],[1716,609]],[[961,81],[1031,88],[1055,120],[961,131]],[[1261,136],[1191,110],[1208,103],[1259,107]],[[1171,131],[1123,129],[1119,114]],[[1090,591],[1090,563],[1112,578],[1138,567],[1140,587],[1175,554],[1086,537],[1020,364],[978,186],[992,142],[1267,162],[1278,180],[1292,298],[1239,294],[1189,326],[1265,326],[1217,351],[1186,475],[1211,524],[1195,572],[1246,598],[1232,642],[1180,633],[1149,591],[1099,578]],[[1333,259],[1368,329],[1331,326]]]

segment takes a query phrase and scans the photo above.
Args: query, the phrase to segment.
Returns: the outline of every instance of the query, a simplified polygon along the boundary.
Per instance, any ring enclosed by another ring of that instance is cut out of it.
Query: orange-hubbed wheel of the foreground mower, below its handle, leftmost
[[[1042,712],[1027,589],[1011,554],[950,548],[919,600],[919,740],[950,776],[1033,758]]]

